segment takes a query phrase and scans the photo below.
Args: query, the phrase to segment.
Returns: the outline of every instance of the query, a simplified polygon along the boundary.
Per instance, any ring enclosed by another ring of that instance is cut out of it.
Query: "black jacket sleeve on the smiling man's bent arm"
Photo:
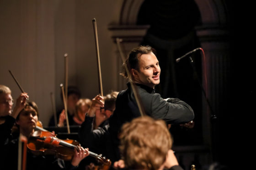
[[[194,119],[192,108],[178,98],[163,99],[155,93],[151,98],[151,114],[169,124],[183,124]]]

